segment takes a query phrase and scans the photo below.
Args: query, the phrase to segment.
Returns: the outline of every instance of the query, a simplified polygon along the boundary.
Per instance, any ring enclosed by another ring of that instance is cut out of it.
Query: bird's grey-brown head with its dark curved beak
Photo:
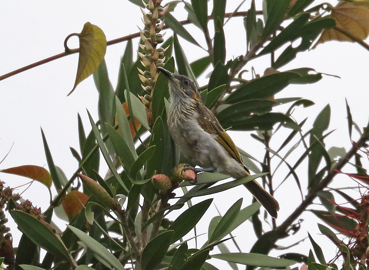
[[[174,74],[162,67],[157,70],[161,71],[168,78],[170,97],[175,99],[192,99],[193,101],[201,101],[201,96],[195,83],[189,77]]]

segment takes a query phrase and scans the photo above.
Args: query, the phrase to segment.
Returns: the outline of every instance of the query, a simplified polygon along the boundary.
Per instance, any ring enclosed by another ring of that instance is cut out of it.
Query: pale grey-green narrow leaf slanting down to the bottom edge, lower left
[[[110,264],[117,270],[124,270],[123,265],[118,261],[117,258],[114,257],[103,245],[93,239],[91,236],[87,235],[85,232],[77,229],[71,225],[67,225],[67,227],[75,234],[77,237],[89,248],[92,250],[97,256],[103,259],[105,262]]]

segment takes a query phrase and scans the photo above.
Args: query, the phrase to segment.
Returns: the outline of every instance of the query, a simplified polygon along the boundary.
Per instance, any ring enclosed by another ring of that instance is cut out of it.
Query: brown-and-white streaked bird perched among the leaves
[[[216,171],[236,179],[249,176],[241,155],[218,119],[201,101],[196,85],[184,75],[157,67],[168,80],[169,133],[182,154],[204,171]],[[244,184],[273,217],[277,217],[279,203],[256,180]]]

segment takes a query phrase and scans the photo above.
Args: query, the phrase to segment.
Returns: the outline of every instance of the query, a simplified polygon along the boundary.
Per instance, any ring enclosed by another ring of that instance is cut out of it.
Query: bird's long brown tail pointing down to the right
[[[262,206],[268,211],[268,213],[277,218],[277,211],[279,210],[279,203],[272,195],[266,192],[265,189],[258,182],[252,180],[244,184],[244,186],[254,195],[255,199],[258,200]]]

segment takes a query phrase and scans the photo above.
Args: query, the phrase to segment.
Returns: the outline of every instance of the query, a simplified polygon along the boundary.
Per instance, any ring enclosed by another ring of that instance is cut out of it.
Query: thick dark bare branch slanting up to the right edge
[[[359,149],[363,147],[367,141],[369,141],[369,123],[364,130],[365,132],[362,134],[360,139],[353,144],[347,154],[338,161],[337,165],[330,169],[327,176],[325,176],[325,178],[323,178],[323,180],[321,180],[321,182],[310,191],[305,200],[301,202],[301,204],[293,211],[293,213],[290,214],[289,217],[287,217],[286,220],[284,220],[283,223],[276,228],[277,231],[281,233],[285,232],[287,228],[301,215],[301,213],[303,213],[303,211],[305,211],[306,208],[313,203],[313,200],[317,197],[318,192],[327,187],[334,176],[337,175],[337,171],[341,171],[343,166],[349,162],[356,152],[358,152]]]

